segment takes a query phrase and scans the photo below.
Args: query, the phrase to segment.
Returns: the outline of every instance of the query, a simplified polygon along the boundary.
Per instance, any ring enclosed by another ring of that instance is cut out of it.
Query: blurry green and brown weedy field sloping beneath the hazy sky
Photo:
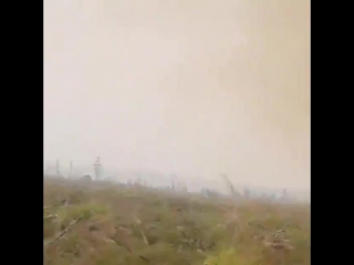
[[[45,265],[308,265],[310,206],[44,179]]]

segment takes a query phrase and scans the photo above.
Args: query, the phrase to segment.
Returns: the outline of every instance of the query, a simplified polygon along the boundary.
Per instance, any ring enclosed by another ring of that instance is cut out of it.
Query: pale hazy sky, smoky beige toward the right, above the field
[[[310,0],[44,0],[44,158],[310,186]]]

